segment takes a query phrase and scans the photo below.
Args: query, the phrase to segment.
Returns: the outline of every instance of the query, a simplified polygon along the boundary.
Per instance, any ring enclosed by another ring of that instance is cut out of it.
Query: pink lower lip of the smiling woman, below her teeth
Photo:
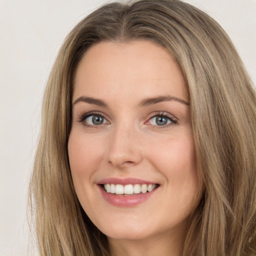
[[[158,187],[154,188],[150,192],[139,193],[134,195],[116,195],[112,193],[107,193],[105,189],[100,186],[101,194],[103,198],[110,204],[119,206],[119,207],[132,207],[136,206],[139,203],[146,201]]]

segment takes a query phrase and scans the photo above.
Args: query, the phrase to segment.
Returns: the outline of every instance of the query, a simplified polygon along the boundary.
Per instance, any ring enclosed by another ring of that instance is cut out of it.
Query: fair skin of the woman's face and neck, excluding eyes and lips
[[[173,99],[141,105],[160,95],[189,101],[178,64],[150,41],[100,42],[76,69],[68,140],[71,174],[84,211],[108,238],[111,255],[182,254],[198,188],[190,109]],[[107,106],[77,101],[81,96]],[[103,123],[81,121],[90,111],[102,115]],[[174,122],[157,125],[153,116],[162,112]],[[146,201],[118,207],[102,197],[96,184],[109,177],[160,186]]]

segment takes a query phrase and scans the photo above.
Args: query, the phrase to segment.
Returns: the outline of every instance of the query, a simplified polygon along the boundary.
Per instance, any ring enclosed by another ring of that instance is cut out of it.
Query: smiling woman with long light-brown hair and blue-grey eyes
[[[253,255],[256,100],[179,0],[110,3],[52,68],[30,183],[41,255]]]

